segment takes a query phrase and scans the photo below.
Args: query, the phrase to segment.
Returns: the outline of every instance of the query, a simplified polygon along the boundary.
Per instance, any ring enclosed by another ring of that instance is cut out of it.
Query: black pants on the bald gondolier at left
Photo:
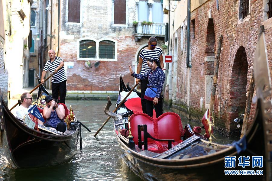
[[[59,83],[53,83],[52,85],[52,97],[53,99],[59,99],[59,93],[60,93],[60,103],[65,104],[65,97],[66,97],[66,80],[59,82]]]

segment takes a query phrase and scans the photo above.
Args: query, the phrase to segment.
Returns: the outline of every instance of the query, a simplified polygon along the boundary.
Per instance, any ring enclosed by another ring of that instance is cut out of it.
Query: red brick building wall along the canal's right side
[[[205,81],[206,76],[213,75],[213,61],[207,61],[217,53],[218,37],[223,36],[219,64],[218,84],[215,95],[215,129],[226,135],[239,134],[241,128],[236,128],[233,120],[244,113],[257,44],[258,31],[264,24],[264,33],[267,45],[268,60],[272,59],[272,28],[271,18],[264,21],[263,1],[251,1],[250,13],[239,20],[239,1],[219,1],[219,10],[216,1],[207,1],[191,12],[191,64],[190,69],[190,97],[189,118],[201,120],[205,111]],[[209,18],[209,10],[211,17]],[[180,35],[180,29],[173,34],[172,50],[175,46],[175,36]],[[177,36],[180,47],[180,37]],[[184,39],[185,40],[185,39]],[[185,40],[186,41],[186,40]],[[183,42],[183,44],[186,44]],[[177,51],[177,100],[173,108],[182,109],[186,105],[186,53]],[[173,51],[173,54],[175,52]],[[270,69],[271,63],[269,62]],[[181,85],[183,84],[183,86]],[[209,104],[209,103],[208,103]],[[251,105],[251,114],[248,124],[251,124],[256,105]],[[187,109],[185,109],[187,111]]]

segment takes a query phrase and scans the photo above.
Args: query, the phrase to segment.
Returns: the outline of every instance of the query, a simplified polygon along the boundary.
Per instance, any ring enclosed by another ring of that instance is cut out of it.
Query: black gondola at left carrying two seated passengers
[[[39,79],[40,83],[40,79]],[[0,90],[1,91],[1,90]],[[0,95],[1,92],[0,92]],[[49,95],[43,85],[39,87],[37,101],[44,104]],[[70,110],[70,129],[61,133],[39,125],[39,131],[27,127],[14,117],[2,96],[0,104],[1,146],[14,169],[53,166],[70,160],[76,153],[79,124]],[[72,125],[73,124],[73,125]]]

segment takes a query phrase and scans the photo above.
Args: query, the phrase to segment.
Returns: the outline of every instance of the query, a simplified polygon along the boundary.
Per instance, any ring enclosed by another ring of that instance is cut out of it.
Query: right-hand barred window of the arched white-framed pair
[[[99,42],[99,58],[115,59],[115,43],[113,41]]]

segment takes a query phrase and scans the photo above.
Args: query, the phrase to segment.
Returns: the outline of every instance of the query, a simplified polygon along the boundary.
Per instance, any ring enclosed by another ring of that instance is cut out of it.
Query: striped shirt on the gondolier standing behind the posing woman
[[[156,47],[154,50],[147,50],[147,49],[142,49],[139,57],[141,57],[143,61],[143,66],[142,66],[142,71],[141,74],[144,75],[147,73],[147,71],[150,69],[149,66],[147,65],[147,60],[150,57],[153,57],[157,60],[159,60],[160,55],[162,54],[162,50],[159,47]]]

